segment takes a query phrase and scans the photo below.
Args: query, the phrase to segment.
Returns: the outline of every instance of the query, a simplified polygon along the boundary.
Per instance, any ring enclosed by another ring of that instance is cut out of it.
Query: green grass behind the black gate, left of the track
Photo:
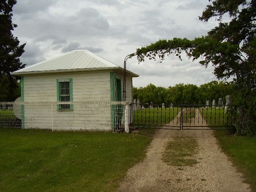
[[[180,108],[145,108],[133,111],[134,124],[165,125],[176,121]]]

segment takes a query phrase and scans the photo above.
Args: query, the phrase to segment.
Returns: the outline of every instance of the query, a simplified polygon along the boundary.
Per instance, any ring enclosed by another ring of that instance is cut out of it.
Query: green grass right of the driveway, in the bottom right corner
[[[256,191],[256,137],[227,135],[226,131],[215,131],[219,144],[230,161],[245,176],[245,182]]]

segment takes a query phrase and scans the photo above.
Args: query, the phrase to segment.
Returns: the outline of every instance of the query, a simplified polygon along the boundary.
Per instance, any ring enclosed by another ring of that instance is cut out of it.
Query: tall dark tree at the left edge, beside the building
[[[19,57],[24,53],[26,44],[19,45],[19,40],[12,34],[16,24],[12,23],[12,8],[17,3],[16,0],[1,0],[0,2],[0,80],[8,82],[9,86],[1,87],[2,93],[8,93],[2,99],[13,100],[14,93],[18,89],[17,77],[11,72],[22,69],[25,64],[20,62]]]

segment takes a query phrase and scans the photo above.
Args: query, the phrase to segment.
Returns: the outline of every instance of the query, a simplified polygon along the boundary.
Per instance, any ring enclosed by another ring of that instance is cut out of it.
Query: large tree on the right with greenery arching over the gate
[[[193,60],[200,59],[201,65],[215,67],[214,74],[219,79],[232,78],[237,86],[237,104],[246,124],[255,123],[255,71],[256,71],[256,1],[255,0],[209,0],[211,2],[199,17],[208,22],[215,17],[218,26],[207,35],[193,40],[174,38],[159,41],[137,49],[139,62],[145,57],[161,60],[166,55],[176,55],[181,59],[184,51]],[[223,21],[228,15],[229,20]],[[242,127],[241,129],[244,129]]]

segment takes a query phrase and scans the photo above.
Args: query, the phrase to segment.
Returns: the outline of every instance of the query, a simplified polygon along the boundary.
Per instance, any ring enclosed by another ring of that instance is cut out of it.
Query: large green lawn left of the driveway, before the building
[[[115,191],[153,135],[2,128],[0,191]]]

